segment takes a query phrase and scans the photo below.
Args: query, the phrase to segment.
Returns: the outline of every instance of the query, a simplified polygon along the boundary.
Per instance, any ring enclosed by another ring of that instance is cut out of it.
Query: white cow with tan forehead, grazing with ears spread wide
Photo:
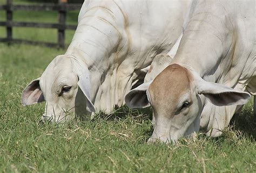
[[[149,141],[176,142],[199,128],[219,136],[256,95],[254,7],[255,1],[193,1],[171,65],[125,97],[130,107],[152,105]]]

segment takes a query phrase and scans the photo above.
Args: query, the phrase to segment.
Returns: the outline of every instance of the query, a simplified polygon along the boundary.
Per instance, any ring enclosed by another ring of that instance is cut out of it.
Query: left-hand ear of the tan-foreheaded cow
[[[143,83],[137,88],[129,91],[125,96],[125,103],[127,104],[127,106],[129,106],[131,109],[149,107],[150,97],[147,89],[149,89],[151,83],[152,81]]]

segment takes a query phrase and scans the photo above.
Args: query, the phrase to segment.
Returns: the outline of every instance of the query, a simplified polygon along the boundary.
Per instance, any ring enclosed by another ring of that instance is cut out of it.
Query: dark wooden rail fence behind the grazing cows
[[[12,0],[6,0],[5,5],[0,5],[0,10],[6,11],[6,21],[0,21],[0,26],[6,27],[6,38],[0,38],[0,42],[21,43],[33,45],[45,45],[49,47],[65,47],[65,30],[76,30],[77,25],[66,25],[66,12],[80,10],[82,4],[67,4],[59,1],[58,4],[36,4],[36,5],[14,5]],[[58,23],[35,23],[13,21],[12,14],[14,11],[58,11]],[[30,41],[15,39],[12,37],[12,27],[36,27],[36,28],[56,28],[58,30],[57,44],[42,41]]]

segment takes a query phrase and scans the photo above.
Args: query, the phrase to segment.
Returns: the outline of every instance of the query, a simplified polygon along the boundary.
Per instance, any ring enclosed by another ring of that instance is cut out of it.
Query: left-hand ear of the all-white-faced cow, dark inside
[[[32,105],[44,101],[44,95],[39,86],[40,78],[31,81],[22,92],[21,102],[23,106]]]

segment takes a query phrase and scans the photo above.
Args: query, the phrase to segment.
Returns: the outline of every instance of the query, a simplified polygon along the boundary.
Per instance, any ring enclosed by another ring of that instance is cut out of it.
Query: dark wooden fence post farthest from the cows
[[[11,23],[12,21],[12,9],[11,9],[11,5],[12,5],[12,0],[6,0],[6,34],[7,34],[7,41],[8,44],[11,43],[12,41],[12,27],[11,25],[8,26],[8,24]]]

